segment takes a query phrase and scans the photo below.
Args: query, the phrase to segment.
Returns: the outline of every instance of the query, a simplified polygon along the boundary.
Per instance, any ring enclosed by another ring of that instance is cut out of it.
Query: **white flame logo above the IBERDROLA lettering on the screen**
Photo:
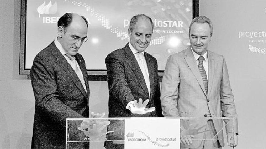
[[[55,14],[57,12],[57,2],[52,5],[52,2],[50,1],[47,5],[45,5],[45,1],[43,4],[41,4],[37,11],[39,13],[39,17],[41,14]]]

